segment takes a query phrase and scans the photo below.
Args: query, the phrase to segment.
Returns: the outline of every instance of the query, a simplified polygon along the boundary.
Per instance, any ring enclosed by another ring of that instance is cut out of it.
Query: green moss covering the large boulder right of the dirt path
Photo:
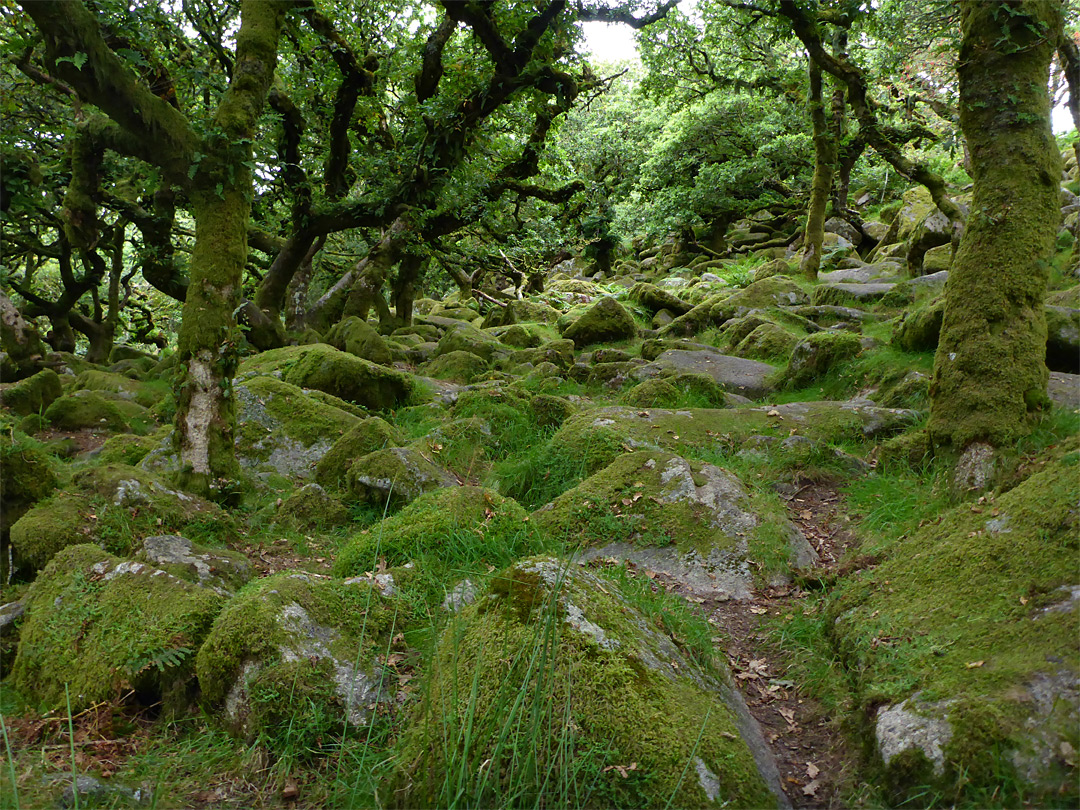
[[[1080,671],[1077,608],[1068,603],[1080,480],[1065,458],[1004,495],[900,537],[880,565],[829,598],[835,640],[863,706],[915,692],[928,703],[950,702],[954,737],[940,784],[949,801],[988,799],[1010,752],[1062,733],[1044,720],[1029,731],[1026,718],[1041,711],[1030,685]]]

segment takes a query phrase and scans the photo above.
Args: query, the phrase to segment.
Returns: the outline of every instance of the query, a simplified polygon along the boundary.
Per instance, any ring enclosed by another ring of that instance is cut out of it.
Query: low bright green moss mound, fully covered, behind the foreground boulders
[[[523,544],[530,531],[528,515],[516,501],[481,487],[460,486],[421,495],[401,512],[352,538],[339,552],[334,572],[360,576],[372,570],[380,556],[391,567],[419,559],[426,566],[451,553],[477,536],[500,550]],[[501,553],[501,551],[500,551]]]

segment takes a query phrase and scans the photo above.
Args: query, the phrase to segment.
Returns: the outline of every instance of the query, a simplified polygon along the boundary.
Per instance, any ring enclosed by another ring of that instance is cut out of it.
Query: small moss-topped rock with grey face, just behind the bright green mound
[[[459,482],[424,458],[417,447],[388,447],[356,459],[346,473],[346,487],[356,500],[401,507],[423,492]]]

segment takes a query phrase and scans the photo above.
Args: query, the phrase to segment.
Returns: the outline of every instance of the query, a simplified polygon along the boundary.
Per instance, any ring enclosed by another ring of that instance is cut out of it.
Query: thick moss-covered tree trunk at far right
[[[1047,403],[1042,299],[1061,220],[1047,82],[1057,0],[961,4],[960,126],[974,199],[949,272],[930,388],[935,446],[995,446]]]

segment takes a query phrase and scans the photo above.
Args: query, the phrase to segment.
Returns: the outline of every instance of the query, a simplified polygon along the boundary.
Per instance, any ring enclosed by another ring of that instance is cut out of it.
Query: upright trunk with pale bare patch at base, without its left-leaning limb
[[[177,343],[174,442],[181,486],[201,492],[228,490],[240,472],[233,450],[232,376],[239,343],[234,313],[247,261],[248,166],[284,15],[283,3],[243,3],[232,80],[204,140],[190,192],[195,244]]]

